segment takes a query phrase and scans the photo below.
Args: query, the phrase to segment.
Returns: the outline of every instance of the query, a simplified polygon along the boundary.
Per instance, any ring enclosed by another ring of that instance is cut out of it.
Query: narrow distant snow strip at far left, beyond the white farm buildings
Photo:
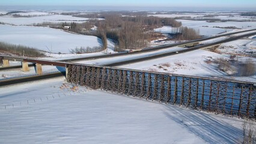
[[[13,25],[32,25],[43,22],[62,23],[62,22],[86,22],[88,18],[73,17],[64,15],[49,15],[39,17],[12,17],[12,16],[0,16],[0,22],[13,24]]]

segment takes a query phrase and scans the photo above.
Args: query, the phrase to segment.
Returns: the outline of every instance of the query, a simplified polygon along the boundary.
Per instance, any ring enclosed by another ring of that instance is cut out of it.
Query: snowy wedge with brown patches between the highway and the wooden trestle
[[[216,77],[236,79],[247,82],[256,82],[256,75],[248,77],[231,77],[223,71],[218,70],[215,65],[207,64],[207,59],[229,58],[229,55],[206,50],[194,50],[192,52],[180,53],[174,56],[151,59],[149,61],[136,62],[133,64],[121,65],[120,68],[134,70],[156,71],[163,73],[183,74],[187,76]],[[256,60],[256,59],[255,59]]]

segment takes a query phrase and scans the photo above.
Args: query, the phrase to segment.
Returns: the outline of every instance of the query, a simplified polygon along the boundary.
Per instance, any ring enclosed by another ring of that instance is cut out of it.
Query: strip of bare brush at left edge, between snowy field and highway
[[[19,56],[30,56],[30,57],[45,56],[44,53],[40,52],[38,49],[15,45],[15,44],[8,44],[3,42],[0,42],[0,50],[2,52],[13,53],[14,55],[19,55]]]

